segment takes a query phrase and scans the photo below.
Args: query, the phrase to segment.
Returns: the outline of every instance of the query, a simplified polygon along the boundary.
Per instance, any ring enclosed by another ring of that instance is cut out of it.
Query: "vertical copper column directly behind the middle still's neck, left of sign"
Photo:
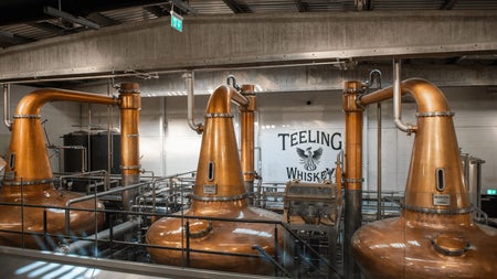
[[[243,173],[243,182],[248,194],[254,193],[254,114],[257,109],[256,97],[254,93],[254,85],[242,85],[242,95],[248,99],[248,106],[240,107],[241,125],[240,125],[240,138],[241,138],[241,164]],[[253,198],[251,198],[253,204]]]

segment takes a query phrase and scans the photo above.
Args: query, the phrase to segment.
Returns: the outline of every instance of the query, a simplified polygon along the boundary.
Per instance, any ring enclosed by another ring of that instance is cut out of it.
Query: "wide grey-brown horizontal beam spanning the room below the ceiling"
[[[103,28],[0,51],[0,81],[496,53],[495,12],[327,12],[186,17]]]

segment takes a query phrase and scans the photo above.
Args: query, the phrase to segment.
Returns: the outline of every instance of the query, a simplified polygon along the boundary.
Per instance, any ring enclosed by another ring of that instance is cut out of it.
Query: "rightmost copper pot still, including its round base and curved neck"
[[[459,150],[443,93],[423,79],[401,84],[417,105],[401,216],[370,223],[352,237],[353,257],[368,278],[495,278],[497,229],[473,223]],[[392,88],[366,95],[387,99]]]

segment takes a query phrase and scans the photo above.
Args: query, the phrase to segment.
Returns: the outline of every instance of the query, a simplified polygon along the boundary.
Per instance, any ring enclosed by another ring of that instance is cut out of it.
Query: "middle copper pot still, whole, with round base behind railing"
[[[148,248],[155,262],[232,272],[274,272],[274,266],[262,259],[253,246],[258,245],[267,254],[275,255],[282,247],[283,236],[275,233],[276,226],[273,224],[243,221],[281,221],[282,217],[248,205],[230,111],[231,101],[244,105],[246,99],[231,86],[220,86],[209,100],[192,204],[181,213],[195,218],[163,217],[150,226],[147,243],[167,248]],[[202,216],[239,222],[209,221],[202,219]],[[187,227],[190,234],[188,242]],[[191,249],[189,257],[187,246]],[[225,255],[228,253],[232,255]]]

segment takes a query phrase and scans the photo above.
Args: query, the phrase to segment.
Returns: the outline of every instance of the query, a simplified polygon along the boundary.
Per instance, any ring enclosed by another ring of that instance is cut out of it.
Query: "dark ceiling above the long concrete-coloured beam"
[[[85,26],[47,12],[61,11],[93,23]],[[495,0],[2,0],[0,47],[27,44],[92,29],[170,17],[240,13],[496,10]],[[276,15],[277,17],[277,15]]]

